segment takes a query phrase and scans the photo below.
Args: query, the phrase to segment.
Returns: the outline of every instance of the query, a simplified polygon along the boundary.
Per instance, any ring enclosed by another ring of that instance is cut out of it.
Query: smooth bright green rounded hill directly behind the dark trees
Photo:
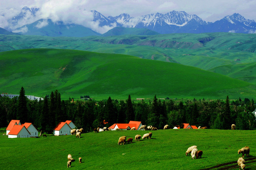
[[[253,98],[250,83],[176,63],[122,54],[26,49],[0,53],[2,92],[44,96],[58,89],[62,99],[93,98]]]

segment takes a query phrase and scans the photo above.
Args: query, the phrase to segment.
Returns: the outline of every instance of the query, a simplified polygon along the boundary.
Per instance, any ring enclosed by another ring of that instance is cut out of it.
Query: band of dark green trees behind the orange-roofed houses
[[[91,132],[94,128],[109,127],[114,123],[141,121],[158,129],[168,124],[171,128],[190,125],[207,126],[209,129],[239,130],[256,129],[254,100],[158,100],[156,95],[149,102],[127,100],[87,101],[61,100],[58,90],[52,91],[44,100],[29,100],[22,87],[19,97],[0,98],[0,125],[7,127],[12,119],[30,122],[39,130],[53,133],[59,122],[72,120],[78,129]]]

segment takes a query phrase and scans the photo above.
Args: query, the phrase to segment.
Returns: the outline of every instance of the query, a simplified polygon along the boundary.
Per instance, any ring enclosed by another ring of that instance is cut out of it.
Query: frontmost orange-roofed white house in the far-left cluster
[[[28,138],[30,133],[24,125],[14,125],[8,134],[8,138]]]

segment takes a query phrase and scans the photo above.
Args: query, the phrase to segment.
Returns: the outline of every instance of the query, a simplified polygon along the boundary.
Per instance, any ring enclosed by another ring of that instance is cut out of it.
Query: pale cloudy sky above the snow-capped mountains
[[[90,22],[90,10],[96,10],[104,16],[127,13],[132,17],[157,12],[165,14],[173,10],[185,11],[208,22],[239,13],[245,19],[256,20],[256,0],[1,0],[0,12],[5,8],[20,10],[24,6],[40,8],[41,18],[75,20],[77,23]],[[6,17],[14,13],[5,14],[5,18],[0,16],[0,27],[8,24]],[[92,27],[97,27],[97,24]]]

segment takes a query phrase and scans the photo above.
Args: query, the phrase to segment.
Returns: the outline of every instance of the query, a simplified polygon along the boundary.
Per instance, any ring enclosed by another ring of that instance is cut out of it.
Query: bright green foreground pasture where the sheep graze
[[[256,169],[255,131],[158,130],[152,131],[152,139],[117,145],[120,136],[134,139],[148,132],[85,133],[80,139],[72,135],[13,139],[0,135],[1,169],[64,169],[68,154],[75,159],[72,169],[238,169],[238,150],[245,146],[250,147],[246,169]],[[202,158],[192,160],[185,155],[193,145],[203,151]]]

